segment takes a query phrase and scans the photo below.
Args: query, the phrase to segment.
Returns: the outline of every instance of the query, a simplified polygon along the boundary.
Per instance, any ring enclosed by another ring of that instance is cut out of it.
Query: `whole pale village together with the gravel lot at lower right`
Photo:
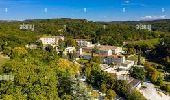
[[[64,40],[64,36],[44,36],[38,41],[42,42],[44,49],[50,45],[55,49],[56,52],[60,53],[61,48],[59,47],[59,42]],[[139,79],[131,77],[130,70],[132,67],[144,68],[144,66],[142,64],[139,65],[138,61],[136,60],[127,59],[127,51],[123,46],[101,45],[100,43],[93,44],[88,39],[74,39],[74,41],[76,41],[76,47],[64,47],[62,51],[63,56],[67,56],[68,54],[72,54],[72,56],[74,55],[73,62],[76,62],[80,66],[84,66],[83,64],[78,63],[81,60],[90,61],[93,57],[100,58],[100,67],[102,71],[116,75],[117,80],[125,80],[132,89],[137,89],[146,98],[152,98],[151,95],[155,96],[156,99],[169,98],[161,91],[158,91],[149,81],[143,82]],[[36,49],[37,45],[30,44],[26,45],[26,47],[29,49]],[[86,83],[85,76],[81,76],[80,80]],[[98,89],[93,89],[93,91],[97,91],[100,94],[99,98],[101,100],[105,97],[105,94],[101,93]],[[148,91],[154,91],[154,93]],[[116,100],[124,100],[124,98],[117,96]]]

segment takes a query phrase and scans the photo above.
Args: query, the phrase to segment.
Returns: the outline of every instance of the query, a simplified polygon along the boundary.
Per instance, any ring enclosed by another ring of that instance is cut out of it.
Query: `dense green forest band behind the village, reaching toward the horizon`
[[[34,24],[35,31],[20,30],[19,25],[22,23]],[[2,41],[10,41],[9,44],[16,41],[15,45],[17,45],[35,42],[38,37],[43,36],[44,34],[64,35],[72,38],[90,39],[93,43],[100,42],[101,44],[108,45],[122,45],[123,42],[138,40],[146,40],[147,43],[153,41],[154,43],[154,41],[157,41],[155,38],[168,35],[168,33],[159,32],[159,30],[152,32],[137,30],[136,24],[138,23],[94,23],[79,19],[44,19],[26,20],[24,22],[0,22],[0,38]],[[103,25],[106,25],[106,28],[103,28]],[[69,42],[74,41],[67,39],[67,45],[70,45]]]

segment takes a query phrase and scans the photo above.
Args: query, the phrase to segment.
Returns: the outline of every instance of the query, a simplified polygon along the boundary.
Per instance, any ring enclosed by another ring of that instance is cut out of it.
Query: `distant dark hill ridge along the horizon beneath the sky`
[[[83,22],[83,23],[96,23],[96,24],[126,24],[135,26],[137,24],[150,24],[152,26],[153,31],[162,31],[162,32],[170,32],[170,19],[156,19],[156,20],[141,20],[141,21],[111,21],[111,22],[104,22],[104,21],[88,21],[86,19],[71,19],[71,18],[53,18],[53,19],[27,19],[24,21],[17,21],[17,20],[0,20],[2,22],[51,22],[51,21],[60,21],[60,22]]]

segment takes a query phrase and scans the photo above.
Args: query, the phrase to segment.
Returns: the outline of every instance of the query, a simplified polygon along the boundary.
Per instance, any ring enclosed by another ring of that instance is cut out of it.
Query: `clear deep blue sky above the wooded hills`
[[[74,18],[137,21],[170,18],[170,0],[0,0],[0,20]]]

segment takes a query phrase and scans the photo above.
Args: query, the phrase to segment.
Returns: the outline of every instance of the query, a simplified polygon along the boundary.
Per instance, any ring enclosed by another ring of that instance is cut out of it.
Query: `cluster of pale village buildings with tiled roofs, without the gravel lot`
[[[55,48],[56,52],[59,53],[59,41],[64,41],[64,39],[64,36],[45,36],[41,37],[39,40],[42,42],[44,48],[51,45]],[[76,47],[66,47],[64,48],[63,55],[75,53],[75,61],[80,59],[90,60],[92,56],[99,57],[101,60],[100,67],[103,71],[110,74],[116,74],[118,80],[126,80],[133,88],[141,88],[142,82],[130,77],[129,70],[132,66],[144,66],[137,65],[137,62],[133,60],[127,60],[124,55],[126,51],[123,50],[123,47],[100,45],[99,43],[92,44],[88,39],[75,39],[75,41],[78,45],[78,49],[76,49]],[[36,45],[26,45],[26,47],[35,49]]]

